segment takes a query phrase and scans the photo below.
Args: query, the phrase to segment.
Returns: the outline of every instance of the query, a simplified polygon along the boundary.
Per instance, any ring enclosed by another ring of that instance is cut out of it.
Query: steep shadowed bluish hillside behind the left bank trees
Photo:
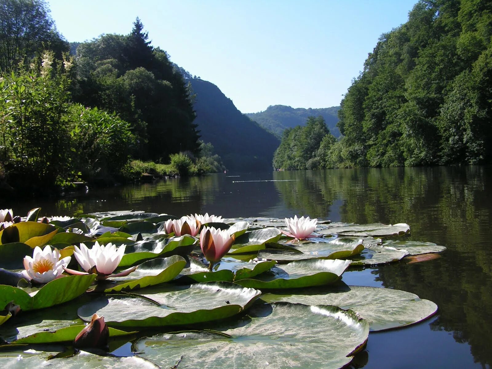
[[[228,169],[271,169],[279,140],[243,115],[213,83],[190,78],[201,140],[211,142]]]

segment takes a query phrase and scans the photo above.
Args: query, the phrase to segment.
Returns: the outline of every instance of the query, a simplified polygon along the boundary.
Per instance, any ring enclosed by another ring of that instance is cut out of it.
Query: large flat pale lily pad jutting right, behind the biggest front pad
[[[437,311],[432,301],[417,295],[391,288],[340,286],[313,287],[302,294],[293,291],[267,293],[261,296],[266,302],[289,302],[308,305],[335,305],[352,309],[366,319],[371,331],[404,327],[427,319]]]

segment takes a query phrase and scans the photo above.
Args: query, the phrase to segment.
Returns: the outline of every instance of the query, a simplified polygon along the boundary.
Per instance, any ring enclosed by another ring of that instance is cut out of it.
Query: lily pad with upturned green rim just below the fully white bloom
[[[140,264],[137,270],[127,277],[112,278],[111,281],[116,285],[107,287],[104,292],[129,291],[168,282],[176,277],[185,265],[186,261],[178,255],[153,259]]]

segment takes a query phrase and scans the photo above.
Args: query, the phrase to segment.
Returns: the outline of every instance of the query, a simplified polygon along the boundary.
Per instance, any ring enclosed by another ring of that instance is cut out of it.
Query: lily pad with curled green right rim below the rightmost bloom
[[[360,254],[364,250],[362,239],[338,238],[325,242],[305,242],[296,245],[301,252],[265,249],[258,251],[258,258],[286,262],[306,259],[341,259]]]

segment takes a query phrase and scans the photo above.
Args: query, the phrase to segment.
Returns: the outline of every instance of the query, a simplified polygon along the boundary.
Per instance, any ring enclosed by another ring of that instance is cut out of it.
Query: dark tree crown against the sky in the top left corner
[[[68,51],[68,43],[55,28],[44,0],[0,0],[0,71],[29,65],[43,50],[57,59]]]

